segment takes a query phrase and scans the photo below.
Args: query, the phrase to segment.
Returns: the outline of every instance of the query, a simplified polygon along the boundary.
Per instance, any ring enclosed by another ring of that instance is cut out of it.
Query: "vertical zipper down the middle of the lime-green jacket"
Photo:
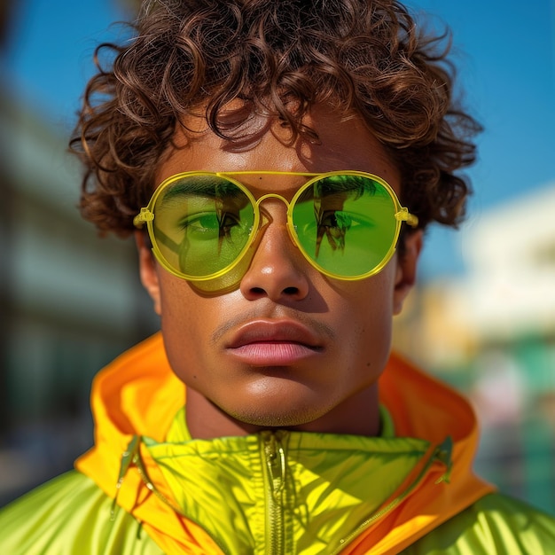
[[[262,451],[265,461],[266,486],[266,549],[267,555],[285,553],[285,449],[281,434],[262,433]]]

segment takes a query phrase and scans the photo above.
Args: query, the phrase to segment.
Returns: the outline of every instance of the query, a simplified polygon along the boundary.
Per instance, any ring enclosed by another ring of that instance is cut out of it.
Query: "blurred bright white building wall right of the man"
[[[477,335],[555,333],[555,182],[483,214],[464,253],[465,318]]]

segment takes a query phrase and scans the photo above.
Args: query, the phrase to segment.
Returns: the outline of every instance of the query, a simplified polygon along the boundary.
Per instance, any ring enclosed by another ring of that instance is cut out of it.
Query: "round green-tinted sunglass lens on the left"
[[[228,271],[254,233],[254,207],[246,192],[220,176],[184,176],[169,184],[152,210],[160,254],[185,277]]]

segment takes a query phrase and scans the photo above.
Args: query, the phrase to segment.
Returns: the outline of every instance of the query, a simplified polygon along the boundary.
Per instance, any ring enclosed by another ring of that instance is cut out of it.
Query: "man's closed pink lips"
[[[308,328],[290,320],[249,322],[233,335],[227,348],[253,366],[286,366],[322,351]]]

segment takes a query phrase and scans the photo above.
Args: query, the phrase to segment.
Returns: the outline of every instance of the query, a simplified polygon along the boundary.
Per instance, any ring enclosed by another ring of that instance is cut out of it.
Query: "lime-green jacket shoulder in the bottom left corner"
[[[160,555],[140,524],[77,471],[0,511],[0,552],[11,555]]]

